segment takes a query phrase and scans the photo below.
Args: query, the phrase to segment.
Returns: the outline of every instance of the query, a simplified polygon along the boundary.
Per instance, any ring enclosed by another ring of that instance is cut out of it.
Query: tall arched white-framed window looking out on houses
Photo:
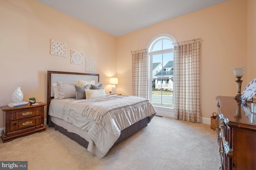
[[[154,106],[173,106],[173,52],[176,39],[161,34],[148,44],[149,51],[149,100]]]

